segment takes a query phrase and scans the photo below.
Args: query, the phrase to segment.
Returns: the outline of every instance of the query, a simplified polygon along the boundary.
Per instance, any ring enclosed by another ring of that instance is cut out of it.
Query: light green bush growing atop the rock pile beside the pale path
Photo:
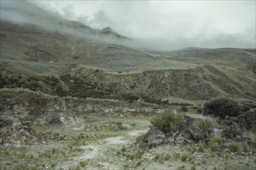
[[[160,131],[181,131],[185,128],[185,121],[181,114],[164,113],[160,117],[155,117],[150,123]]]

